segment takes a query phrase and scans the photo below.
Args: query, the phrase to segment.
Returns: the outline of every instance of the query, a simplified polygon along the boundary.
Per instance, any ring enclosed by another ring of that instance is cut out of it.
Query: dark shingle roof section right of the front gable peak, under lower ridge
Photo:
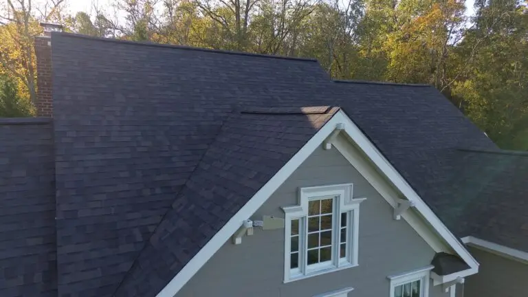
[[[500,151],[434,87],[336,82],[339,104],[448,227],[461,197],[456,148]],[[456,182],[459,184],[459,181]],[[458,234],[458,232],[457,232]],[[465,235],[464,235],[465,236]]]

